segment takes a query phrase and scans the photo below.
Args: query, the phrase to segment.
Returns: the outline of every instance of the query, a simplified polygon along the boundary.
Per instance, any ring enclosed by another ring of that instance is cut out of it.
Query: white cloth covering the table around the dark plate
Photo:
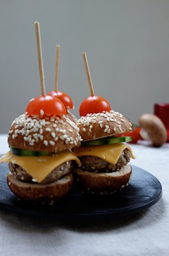
[[[0,255],[169,255],[169,143],[161,148],[131,144],[131,148],[136,155],[131,163],[155,175],[162,184],[158,203],[132,216],[88,225],[59,223],[0,208]],[[6,135],[1,135],[0,154],[6,150]]]

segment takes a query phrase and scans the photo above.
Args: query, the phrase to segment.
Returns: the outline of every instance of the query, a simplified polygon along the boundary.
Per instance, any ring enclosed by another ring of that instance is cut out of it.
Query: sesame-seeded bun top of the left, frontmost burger
[[[24,150],[54,152],[78,147],[81,137],[79,129],[66,116],[20,115],[11,124],[8,144]]]

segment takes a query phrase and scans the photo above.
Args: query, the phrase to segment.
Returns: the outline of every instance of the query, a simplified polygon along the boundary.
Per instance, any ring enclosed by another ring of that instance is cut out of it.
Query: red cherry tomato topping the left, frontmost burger
[[[27,115],[64,115],[67,113],[61,100],[50,95],[38,96],[26,108]]]

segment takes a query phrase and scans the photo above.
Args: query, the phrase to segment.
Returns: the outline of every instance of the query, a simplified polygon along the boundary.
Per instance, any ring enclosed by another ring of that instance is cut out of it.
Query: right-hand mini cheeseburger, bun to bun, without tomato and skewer
[[[82,167],[73,168],[82,191],[110,194],[124,188],[131,177],[128,164],[133,152],[127,143],[131,138],[119,136],[131,131],[129,121],[113,110],[87,114],[77,120],[82,144],[73,152]]]

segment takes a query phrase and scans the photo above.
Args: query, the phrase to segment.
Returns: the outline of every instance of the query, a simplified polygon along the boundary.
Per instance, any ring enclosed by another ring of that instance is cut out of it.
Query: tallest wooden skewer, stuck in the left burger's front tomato
[[[41,95],[45,95],[45,76],[44,76],[43,58],[42,58],[42,52],[41,52],[40,23],[36,21],[34,22],[34,26],[36,29],[36,44],[37,44],[37,50],[38,50],[38,64],[39,64],[39,70],[40,70]]]

